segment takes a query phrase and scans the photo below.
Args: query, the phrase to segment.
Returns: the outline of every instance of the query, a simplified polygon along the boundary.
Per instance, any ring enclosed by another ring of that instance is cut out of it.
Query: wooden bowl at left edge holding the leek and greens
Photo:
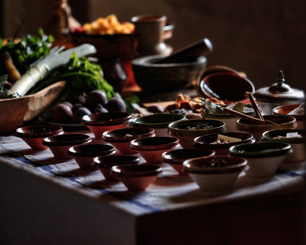
[[[0,99],[0,135],[9,134],[46,111],[62,97],[65,85],[65,81],[59,81],[32,95]]]

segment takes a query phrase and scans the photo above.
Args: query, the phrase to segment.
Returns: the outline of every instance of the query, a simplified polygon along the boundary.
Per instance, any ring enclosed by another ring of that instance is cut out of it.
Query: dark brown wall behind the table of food
[[[52,15],[52,0],[0,0],[0,36],[35,34]],[[165,14],[175,26],[167,44],[174,50],[204,37],[214,51],[208,66],[224,65],[244,72],[256,89],[276,82],[283,70],[285,82],[304,89],[306,64],[306,1],[304,0],[70,0],[81,24],[114,13],[119,21],[146,13]]]

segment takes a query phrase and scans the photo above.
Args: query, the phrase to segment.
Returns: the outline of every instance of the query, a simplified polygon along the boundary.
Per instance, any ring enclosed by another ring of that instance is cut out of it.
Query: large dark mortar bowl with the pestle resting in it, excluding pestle
[[[206,68],[207,58],[185,63],[156,64],[165,55],[148,55],[132,60],[135,81],[142,91],[160,93],[188,87]]]

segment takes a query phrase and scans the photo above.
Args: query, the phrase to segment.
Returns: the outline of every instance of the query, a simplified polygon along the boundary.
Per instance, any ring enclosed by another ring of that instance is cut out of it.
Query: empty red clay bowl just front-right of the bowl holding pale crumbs
[[[131,149],[137,151],[148,164],[162,164],[162,153],[180,146],[173,137],[149,137],[130,142]]]

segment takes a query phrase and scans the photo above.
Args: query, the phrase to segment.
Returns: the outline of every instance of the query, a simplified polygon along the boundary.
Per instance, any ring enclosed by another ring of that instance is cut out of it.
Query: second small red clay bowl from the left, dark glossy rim
[[[68,155],[70,147],[88,144],[91,141],[86,134],[62,134],[45,138],[42,144],[51,150],[55,158],[72,159],[73,156]]]

